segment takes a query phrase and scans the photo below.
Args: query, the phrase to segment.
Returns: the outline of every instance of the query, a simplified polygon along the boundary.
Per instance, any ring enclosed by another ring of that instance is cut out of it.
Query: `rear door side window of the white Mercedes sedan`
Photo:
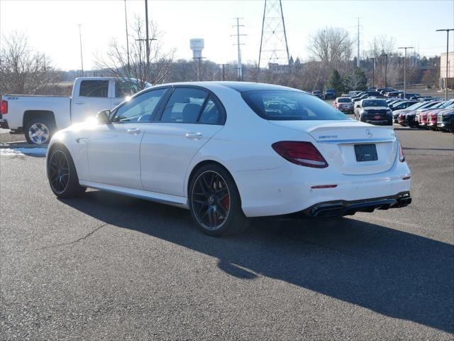
[[[170,96],[160,121],[196,123],[208,95],[205,90],[177,87]]]

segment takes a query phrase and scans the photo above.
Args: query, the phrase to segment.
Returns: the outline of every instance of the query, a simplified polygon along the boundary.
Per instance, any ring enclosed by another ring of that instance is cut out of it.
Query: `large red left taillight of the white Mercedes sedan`
[[[280,156],[299,166],[326,168],[328,163],[311,142],[280,141],[272,144]]]

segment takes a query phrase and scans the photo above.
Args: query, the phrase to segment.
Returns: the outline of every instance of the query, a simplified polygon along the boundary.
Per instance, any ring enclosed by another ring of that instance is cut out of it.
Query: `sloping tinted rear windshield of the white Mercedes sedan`
[[[272,121],[350,120],[320,99],[291,90],[253,90],[241,94],[250,109]]]

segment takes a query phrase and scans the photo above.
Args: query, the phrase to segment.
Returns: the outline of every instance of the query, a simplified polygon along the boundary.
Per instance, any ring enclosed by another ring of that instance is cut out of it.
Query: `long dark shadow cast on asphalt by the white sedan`
[[[115,227],[216,257],[219,269],[231,276],[276,278],[454,332],[453,245],[349,218],[261,218],[245,234],[213,238],[175,207],[99,191],[64,202]]]

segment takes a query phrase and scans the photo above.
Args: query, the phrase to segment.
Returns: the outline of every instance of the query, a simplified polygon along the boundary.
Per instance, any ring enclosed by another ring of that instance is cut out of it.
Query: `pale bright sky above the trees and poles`
[[[258,60],[264,0],[256,1],[148,1],[148,15],[156,21],[166,49],[176,58],[190,59],[190,38],[204,38],[204,56],[216,63],[236,60],[233,18],[242,17],[243,61]],[[127,0],[128,23],[144,18],[145,1]],[[308,38],[317,29],[335,26],[356,38],[360,18],[361,49],[374,36],[394,36],[396,47],[412,45],[421,55],[445,52],[446,34],[437,28],[454,28],[454,0],[426,1],[299,1],[282,0],[289,52],[309,57]],[[84,69],[95,67],[95,56],[105,53],[111,38],[126,43],[123,0],[22,1],[0,0],[0,30],[25,31],[29,43],[52,58],[62,70],[80,67],[79,28],[82,24]],[[450,35],[454,50],[454,33]]]

